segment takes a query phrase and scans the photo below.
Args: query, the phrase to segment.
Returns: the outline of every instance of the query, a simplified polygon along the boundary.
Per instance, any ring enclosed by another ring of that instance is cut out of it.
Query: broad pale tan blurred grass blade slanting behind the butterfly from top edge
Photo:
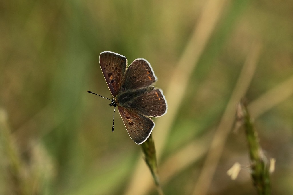
[[[158,160],[160,159],[165,146],[166,138],[168,137],[172,126],[172,121],[174,121],[176,113],[183,100],[190,75],[195,69],[198,59],[204,51],[207,41],[217,25],[217,21],[221,17],[226,3],[227,1],[219,0],[210,0],[206,3],[198,23],[195,25],[191,39],[183,52],[177,68],[174,70],[165,94],[169,109],[167,114],[157,121],[157,131],[154,131],[153,133],[154,138],[160,138],[160,141],[156,143]],[[176,94],[176,96],[174,94]],[[142,177],[142,175],[144,177]],[[142,181],[142,179],[144,180]],[[147,189],[149,189],[151,185],[151,175],[148,173],[144,161],[140,160],[125,194],[146,194]]]

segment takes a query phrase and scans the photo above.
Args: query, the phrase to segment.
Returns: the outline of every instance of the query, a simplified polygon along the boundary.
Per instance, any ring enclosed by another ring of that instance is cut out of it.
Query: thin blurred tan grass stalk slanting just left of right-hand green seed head
[[[246,62],[235,85],[229,103],[214,134],[209,152],[207,153],[207,158],[205,159],[205,163],[193,191],[194,195],[206,194],[212,182],[214,172],[224,149],[226,138],[233,126],[236,104],[245,95],[255,72],[255,67],[260,54],[260,47],[259,43],[255,43],[251,46],[250,53],[246,58]]]

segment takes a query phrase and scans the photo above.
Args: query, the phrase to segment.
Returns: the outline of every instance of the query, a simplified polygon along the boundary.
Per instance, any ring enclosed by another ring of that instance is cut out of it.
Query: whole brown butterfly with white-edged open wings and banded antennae
[[[114,97],[112,100],[106,98],[111,100],[109,105],[114,106],[114,116],[118,106],[130,138],[137,144],[144,143],[155,126],[150,117],[160,117],[167,112],[163,91],[153,86],[157,77],[151,65],[147,60],[139,58],[127,67],[125,56],[106,51],[100,53],[100,67]]]

